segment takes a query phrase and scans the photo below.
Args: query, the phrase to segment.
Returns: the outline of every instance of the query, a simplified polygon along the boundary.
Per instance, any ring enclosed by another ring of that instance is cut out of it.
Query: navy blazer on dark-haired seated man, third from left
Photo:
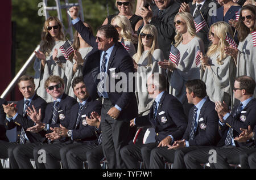
[[[76,127],[78,112],[79,103],[72,106],[69,117],[66,117],[64,121],[61,122],[61,125],[68,128],[68,130],[73,130],[73,140],[76,140],[77,142],[96,140],[97,135],[95,132],[95,127],[86,124],[86,117],[90,118],[90,114],[92,112],[101,114],[101,103],[97,100],[92,100],[89,97],[84,108],[82,109],[81,119]]]

